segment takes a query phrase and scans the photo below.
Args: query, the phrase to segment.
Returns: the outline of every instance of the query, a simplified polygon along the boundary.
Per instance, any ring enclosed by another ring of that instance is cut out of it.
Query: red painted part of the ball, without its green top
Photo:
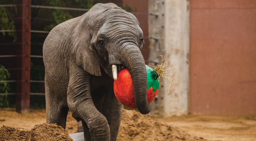
[[[127,68],[122,69],[114,81],[114,93],[116,98],[126,107],[137,108],[134,100],[133,81]],[[153,91],[153,87],[147,90],[148,104],[156,97],[158,88]]]

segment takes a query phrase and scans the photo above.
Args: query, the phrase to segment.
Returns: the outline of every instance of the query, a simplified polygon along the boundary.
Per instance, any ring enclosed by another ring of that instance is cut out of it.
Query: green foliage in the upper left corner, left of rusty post
[[[15,0],[0,1],[0,4],[13,4]],[[16,30],[14,17],[17,14],[17,7],[0,7],[0,29],[1,30]],[[1,32],[4,36],[6,32]],[[10,37],[13,37],[13,42],[17,41],[16,32],[7,32]]]

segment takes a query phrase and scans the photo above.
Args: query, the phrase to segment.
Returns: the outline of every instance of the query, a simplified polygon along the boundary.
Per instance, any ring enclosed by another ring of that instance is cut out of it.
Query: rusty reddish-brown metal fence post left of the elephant
[[[31,0],[19,0],[17,7],[17,40],[22,44],[17,48],[16,112],[24,113],[30,109],[30,27],[31,27]]]

